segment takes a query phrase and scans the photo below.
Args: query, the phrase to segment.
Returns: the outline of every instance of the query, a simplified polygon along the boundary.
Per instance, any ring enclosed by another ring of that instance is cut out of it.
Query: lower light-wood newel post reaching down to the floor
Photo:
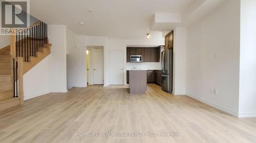
[[[20,104],[24,103],[23,93],[23,57],[17,57],[18,62],[18,96],[20,97]]]

